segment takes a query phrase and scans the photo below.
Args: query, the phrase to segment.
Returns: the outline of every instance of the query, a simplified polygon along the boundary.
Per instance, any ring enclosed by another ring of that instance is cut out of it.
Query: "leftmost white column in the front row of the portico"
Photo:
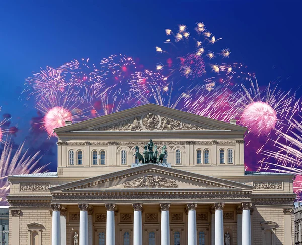
[[[61,204],[52,203],[51,245],[61,245]]]

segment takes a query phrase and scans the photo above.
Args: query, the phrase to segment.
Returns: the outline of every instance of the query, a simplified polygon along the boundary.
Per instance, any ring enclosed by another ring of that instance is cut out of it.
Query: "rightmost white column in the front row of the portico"
[[[252,203],[242,203],[242,245],[251,245],[251,206]]]

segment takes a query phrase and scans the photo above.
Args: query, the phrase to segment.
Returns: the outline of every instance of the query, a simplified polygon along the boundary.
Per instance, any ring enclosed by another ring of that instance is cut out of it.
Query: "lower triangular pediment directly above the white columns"
[[[148,190],[252,191],[242,183],[190,173],[156,164],[118,171],[51,187],[51,192],[113,192]]]

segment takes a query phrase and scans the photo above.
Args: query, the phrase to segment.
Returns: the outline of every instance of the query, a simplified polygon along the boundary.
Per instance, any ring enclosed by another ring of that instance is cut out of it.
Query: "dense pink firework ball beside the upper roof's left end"
[[[65,126],[65,121],[72,121],[69,110],[60,106],[50,109],[44,116],[44,125],[48,135],[52,135],[53,129]]]

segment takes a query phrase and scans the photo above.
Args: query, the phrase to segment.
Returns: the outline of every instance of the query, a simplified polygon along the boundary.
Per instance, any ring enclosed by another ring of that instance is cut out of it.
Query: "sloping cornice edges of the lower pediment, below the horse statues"
[[[157,164],[153,164],[153,163],[149,163],[149,164],[144,164],[142,166],[139,167],[135,167],[135,168],[127,168],[124,170],[120,170],[117,172],[113,172],[113,173],[108,173],[108,174],[104,174],[104,175],[98,175],[95,177],[91,177],[91,178],[85,178],[85,179],[81,179],[81,180],[76,180],[76,181],[72,181],[69,183],[64,183],[55,187],[50,187],[49,191],[57,191],[58,189],[64,189],[65,188],[72,188],[72,187],[77,187],[77,186],[81,186],[84,185],[84,182],[87,181],[98,181],[99,179],[106,179],[106,178],[110,178],[112,175],[123,175],[123,174],[127,174],[128,172],[131,172],[133,169],[134,171],[141,171],[141,170],[145,170],[148,168],[157,168],[159,170],[163,170],[163,171],[167,171],[167,172],[174,172],[174,173],[178,173],[178,174],[182,174],[182,175],[190,175],[190,177],[193,178],[204,178],[208,181],[212,181],[212,182],[221,182],[223,181],[223,183],[225,185],[230,185],[230,186],[235,186],[237,188],[242,187],[242,188],[246,188],[246,189],[254,189],[253,186],[249,186],[249,185],[245,185],[243,183],[238,183],[235,181],[231,181],[231,180],[225,180],[225,179],[220,179],[220,178],[215,178],[215,177],[211,177],[211,176],[206,176],[206,175],[201,175],[201,174],[197,174],[197,173],[192,173],[192,172],[187,172],[187,171],[183,171],[183,170],[179,170],[179,169],[175,169],[175,168],[170,168],[170,167],[164,167],[164,166],[160,166]],[[171,171],[172,170],[172,171]]]

